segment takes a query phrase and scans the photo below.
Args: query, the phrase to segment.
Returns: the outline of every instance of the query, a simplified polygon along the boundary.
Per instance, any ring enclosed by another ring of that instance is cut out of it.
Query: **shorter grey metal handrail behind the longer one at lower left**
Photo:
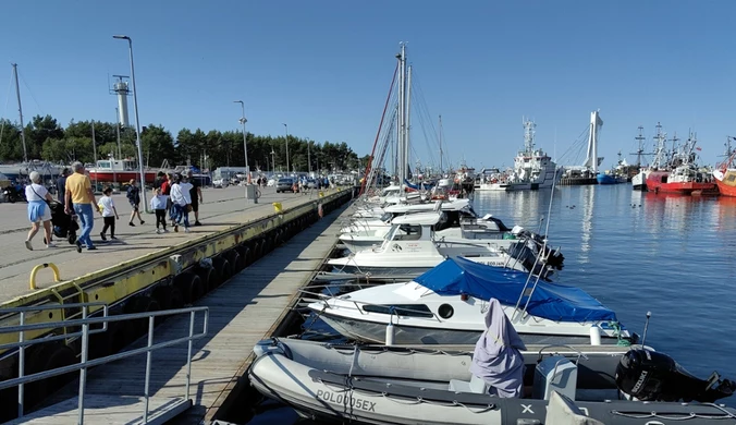
[[[87,308],[90,306],[101,306],[102,307],[102,316],[108,317],[108,305],[101,302],[93,302],[93,303],[75,303],[75,304],[66,304],[66,308],[82,308],[82,317],[85,318],[87,317]],[[13,307],[13,308],[2,308],[0,309],[0,316],[5,315],[5,314],[13,314],[13,313],[19,313],[19,324],[21,327],[27,326],[25,325],[25,314],[28,312],[42,312],[42,311],[48,311],[48,309],[57,309],[59,308],[59,305],[37,305],[37,306],[25,306],[25,307]],[[53,328],[57,328],[58,326],[53,326]],[[8,329],[9,327],[0,327],[0,333],[9,333]],[[105,332],[108,330],[108,324],[107,321],[102,325],[100,329],[95,329],[93,331],[89,331],[89,333],[100,333]],[[12,342],[12,343],[7,343],[7,344],[0,344],[0,350],[5,350],[5,349],[19,349],[17,350],[17,376],[19,378],[22,378],[25,374],[25,348],[28,345],[33,345],[34,343],[38,342],[50,342],[50,341],[58,341],[62,339],[68,339],[68,338],[74,338],[74,337],[82,337],[82,331],[77,332],[72,332],[72,333],[66,333],[66,330],[64,329],[64,332],[61,335],[54,335],[51,337],[47,338],[40,338],[40,339],[32,339],[32,340],[26,340],[25,339],[25,331],[20,330],[19,331],[19,341],[17,342]],[[24,409],[24,399],[25,399],[25,382],[21,382],[17,386],[17,416],[21,417],[23,416],[23,409]]]

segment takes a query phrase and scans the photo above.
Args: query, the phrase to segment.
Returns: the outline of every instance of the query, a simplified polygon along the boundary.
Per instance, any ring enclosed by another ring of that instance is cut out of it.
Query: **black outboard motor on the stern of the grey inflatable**
[[[713,373],[708,380],[690,375],[666,354],[629,350],[616,366],[616,386],[643,401],[700,401],[710,403],[729,397],[736,382]]]

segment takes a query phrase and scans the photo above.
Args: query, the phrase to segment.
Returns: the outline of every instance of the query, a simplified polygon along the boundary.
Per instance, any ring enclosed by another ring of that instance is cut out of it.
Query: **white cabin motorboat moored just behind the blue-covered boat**
[[[476,263],[508,267],[520,271],[535,270],[547,277],[553,268],[562,268],[564,256],[552,252],[543,241],[533,238],[520,240],[474,239],[470,230],[462,240],[436,238],[433,227],[442,214],[420,212],[396,217],[380,246],[359,251],[328,264],[338,272],[395,276],[413,278],[433,268],[447,257],[462,256]],[[482,229],[478,229],[482,230]],[[544,262],[538,262],[540,252]]]

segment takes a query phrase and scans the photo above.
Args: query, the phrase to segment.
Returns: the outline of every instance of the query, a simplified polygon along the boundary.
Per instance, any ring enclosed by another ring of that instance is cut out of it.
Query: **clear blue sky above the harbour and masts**
[[[694,127],[707,163],[736,135],[733,1],[27,0],[2,11],[0,116],[10,119],[8,63],[17,62],[26,117],[112,121],[108,75],[130,65],[126,44],[111,36],[126,34],[140,121],[174,133],[236,130],[232,101],[243,99],[250,132],[280,135],[287,123],[365,155],[398,41],[408,41],[454,162],[511,165],[523,116],[561,157],[600,109],[604,167],[634,151],[638,125],[647,136],[658,121],[668,135]],[[427,161],[416,120],[414,134]]]

